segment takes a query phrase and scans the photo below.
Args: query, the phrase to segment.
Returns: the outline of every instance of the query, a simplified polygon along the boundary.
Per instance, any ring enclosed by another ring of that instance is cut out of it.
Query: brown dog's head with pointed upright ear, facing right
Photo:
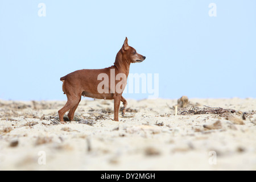
[[[133,47],[128,45],[127,38],[125,38],[125,42],[123,43],[122,53],[123,57],[130,61],[130,63],[141,63],[146,59],[145,56],[140,55]]]

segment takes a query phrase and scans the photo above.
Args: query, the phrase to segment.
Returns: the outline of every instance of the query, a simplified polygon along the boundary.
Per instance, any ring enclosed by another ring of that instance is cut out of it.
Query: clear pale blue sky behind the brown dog
[[[217,16],[209,16],[210,3]],[[159,98],[255,98],[255,7],[253,0],[0,1],[0,99],[66,100],[59,78],[113,65],[126,36],[147,57],[130,73],[158,74]]]

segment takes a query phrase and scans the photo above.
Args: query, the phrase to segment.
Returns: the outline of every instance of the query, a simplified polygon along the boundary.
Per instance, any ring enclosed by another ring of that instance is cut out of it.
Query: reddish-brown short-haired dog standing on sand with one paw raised
[[[122,48],[115,57],[112,67],[104,69],[81,69],[61,77],[63,92],[67,94],[68,101],[59,110],[60,122],[63,122],[64,114],[69,110],[68,119],[73,120],[75,110],[81,101],[81,96],[114,100],[114,121],[118,121],[120,101],[123,102],[122,115],[125,114],[127,101],[122,93],[126,86],[131,63],[139,63],[146,59],[128,45],[125,39]],[[102,81],[102,78],[104,80]],[[122,79],[121,79],[122,78]],[[117,81],[120,80],[120,81]],[[103,89],[104,88],[104,89]]]

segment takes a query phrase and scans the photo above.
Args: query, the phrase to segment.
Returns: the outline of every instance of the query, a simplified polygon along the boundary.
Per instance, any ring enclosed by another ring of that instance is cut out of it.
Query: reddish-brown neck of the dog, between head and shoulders
[[[117,56],[115,57],[114,66],[117,68],[117,71],[119,71],[119,73],[125,73],[125,75],[128,77],[130,61],[123,57],[121,50],[117,53]]]

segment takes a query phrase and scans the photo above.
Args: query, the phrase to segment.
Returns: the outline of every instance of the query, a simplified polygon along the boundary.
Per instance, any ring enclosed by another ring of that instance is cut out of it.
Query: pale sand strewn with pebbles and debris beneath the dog
[[[113,101],[84,99],[76,121],[59,124],[65,101],[0,100],[0,170],[255,170],[256,99],[189,101],[241,115],[175,115],[177,100],[127,100],[115,122]]]

